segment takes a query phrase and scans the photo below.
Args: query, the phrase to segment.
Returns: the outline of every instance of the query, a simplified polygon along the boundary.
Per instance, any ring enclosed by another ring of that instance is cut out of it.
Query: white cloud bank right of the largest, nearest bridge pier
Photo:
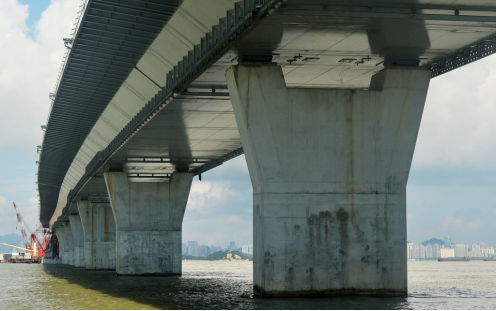
[[[496,57],[431,81],[413,165],[496,168]]]

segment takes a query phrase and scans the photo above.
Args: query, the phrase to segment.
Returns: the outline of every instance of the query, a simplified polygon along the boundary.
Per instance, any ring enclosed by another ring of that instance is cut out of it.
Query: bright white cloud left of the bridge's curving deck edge
[[[0,1],[0,148],[35,154],[41,144],[62,63],[63,37],[70,35],[80,0],[52,0],[29,36],[28,7]]]

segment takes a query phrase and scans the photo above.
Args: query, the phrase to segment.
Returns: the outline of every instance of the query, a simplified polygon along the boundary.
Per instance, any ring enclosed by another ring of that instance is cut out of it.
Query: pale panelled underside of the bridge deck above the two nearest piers
[[[288,87],[365,89],[385,61],[428,66],[488,38],[493,53],[495,34],[493,1],[288,0],[189,81],[199,88],[183,90],[105,161],[131,181],[167,181],[174,170],[196,171],[239,150],[229,96],[207,93],[227,92],[225,71],[240,55],[271,56]]]

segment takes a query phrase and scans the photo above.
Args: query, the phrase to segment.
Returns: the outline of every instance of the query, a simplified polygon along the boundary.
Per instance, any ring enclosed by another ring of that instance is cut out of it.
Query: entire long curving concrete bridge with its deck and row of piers
[[[63,263],[181,274],[193,177],[245,154],[257,295],[405,296],[429,82],[496,51],[496,3],[84,0],[65,43],[38,173]]]

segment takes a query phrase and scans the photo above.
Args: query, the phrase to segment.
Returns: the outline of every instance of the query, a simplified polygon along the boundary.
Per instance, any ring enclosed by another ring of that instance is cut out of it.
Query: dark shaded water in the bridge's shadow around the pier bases
[[[157,309],[401,309],[407,300],[370,297],[328,299],[258,299],[252,295],[250,276],[226,273],[186,272],[182,277],[117,277],[112,272],[84,271],[65,266],[45,266],[49,275],[71,285],[65,291],[72,298],[84,291],[100,292],[108,301],[97,299],[91,307],[102,308],[117,300],[130,300],[144,308]],[[126,308],[136,307],[124,303]]]

